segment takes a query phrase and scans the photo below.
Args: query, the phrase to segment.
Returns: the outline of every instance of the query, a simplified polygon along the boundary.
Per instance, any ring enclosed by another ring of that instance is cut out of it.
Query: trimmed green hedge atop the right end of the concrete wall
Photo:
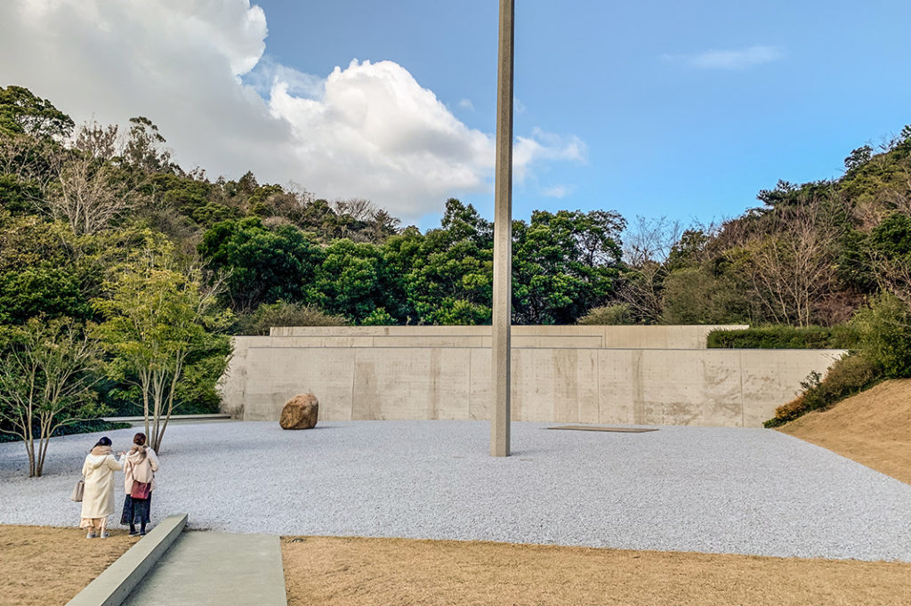
[[[855,349],[857,331],[846,324],[824,326],[765,326],[738,331],[711,331],[707,344],[722,349]]]

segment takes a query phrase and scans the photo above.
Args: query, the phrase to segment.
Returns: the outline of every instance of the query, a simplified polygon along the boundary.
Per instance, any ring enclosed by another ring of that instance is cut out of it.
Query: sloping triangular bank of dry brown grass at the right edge
[[[780,430],[911,484],[911,379],[886,381]]]

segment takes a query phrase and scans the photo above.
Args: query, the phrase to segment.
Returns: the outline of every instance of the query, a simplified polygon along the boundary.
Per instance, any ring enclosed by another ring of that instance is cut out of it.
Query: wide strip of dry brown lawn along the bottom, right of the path
[[[892,606],[911,564],[410,539],[284,538],[289,606]]]

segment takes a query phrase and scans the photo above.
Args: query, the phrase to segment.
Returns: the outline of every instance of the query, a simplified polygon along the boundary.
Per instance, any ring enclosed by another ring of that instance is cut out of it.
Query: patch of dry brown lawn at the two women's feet
[[[62,606],[137,540],[123,530],[86,539],[75,528],[0,526],[0,604]]]

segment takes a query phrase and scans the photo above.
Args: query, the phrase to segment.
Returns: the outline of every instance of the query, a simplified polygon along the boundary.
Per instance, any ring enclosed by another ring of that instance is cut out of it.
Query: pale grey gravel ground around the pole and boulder
[[[911,486],[824,448],[765,429],[545,427],[514,423],[514,456],[494,458],[486,422],[170,426],[153,521],[187,512],[193,528],[229,532],[911,561]],[[120,450],[134,431],[107,435]],[[0,523],[76,524],[69,494],[97,437],[55,438],[32,479],[25,448],[0,445]]]

